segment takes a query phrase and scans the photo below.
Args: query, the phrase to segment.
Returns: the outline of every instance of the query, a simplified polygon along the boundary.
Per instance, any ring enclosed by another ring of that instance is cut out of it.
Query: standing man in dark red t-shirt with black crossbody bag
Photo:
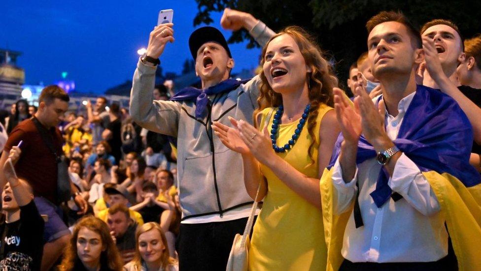
[[[16,163],[15,170],[18,177],[27,180],[32,187],[38,212],[48,216],[43,234],[45,245],[42,256],[42,270],[48,270],[60,257],[70,239],[70,231],[62,220],[62,210],[59,207],[59,198],[64,195],[57,194],[57,161],[62,154],[62,137],[57,125],[69,108],[69,95],[59,86],[50,85],[42,90],[38,101],[37,113],[22,121],[10,133],[0,165],[5,163],[13,146],[22,141],[23,154]],[[71,196],[80,207],[79,214],[85,213],[87,202],[68,177],[64,181],[69,182]],[[0,171],[0,188],[3,188],[5,182]]]

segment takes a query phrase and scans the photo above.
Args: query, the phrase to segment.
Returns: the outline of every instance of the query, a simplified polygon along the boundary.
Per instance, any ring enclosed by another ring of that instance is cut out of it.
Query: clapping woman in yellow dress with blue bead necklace
[[[258,128],[231,119],[215,134],[241,153],[247,193],[264,198],[249,249],[249,270],[325,270],[327,249],[319,178],[339,134],[332,110],[337,79],[299,27],[275,35],[262,51]],[[305,127],[306,126],[306,127]]]

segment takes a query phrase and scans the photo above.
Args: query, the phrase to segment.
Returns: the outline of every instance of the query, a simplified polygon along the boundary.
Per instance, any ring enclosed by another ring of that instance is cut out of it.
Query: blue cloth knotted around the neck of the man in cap
[[[198,89],[195,87],[186,87],[177,92],[170,100],[171,101],[186,101],[196,99],[196,118],[204,118],[206,116],[206,107],[210,100],[209,95],[229,92],[238,88],[241,84],[245,84],[247,80],[227,79],[206,89]]]

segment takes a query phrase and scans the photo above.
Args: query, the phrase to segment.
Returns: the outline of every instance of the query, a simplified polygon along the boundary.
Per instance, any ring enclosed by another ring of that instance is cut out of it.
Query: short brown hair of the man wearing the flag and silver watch
[[[414,45],[415,48],[420,49],[422,48],[422,40],[419,31],[411,24],[406,16],[404,16],[401,12],[395,11],[381,11],[377,15],[371,17],[369,21],[366,23],[366,29],[368,33],[371,33],[373,29],[382,23],[386,22],[398,22],[404,25],[408,29],[408,34],[411,36],[412,40],[411,43]]]

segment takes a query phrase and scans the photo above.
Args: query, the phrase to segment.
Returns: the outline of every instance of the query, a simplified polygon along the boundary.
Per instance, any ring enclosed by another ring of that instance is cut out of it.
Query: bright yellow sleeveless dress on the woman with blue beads
[[[321,104],[318,109],[315,134],[319,140],[322,117],[332,108]],[[273,109],[262,111],[259,130],[264,129],[266,118]],[[274,117],[271,115],[268,130]],[[284,146],[291,139],[299,120],[280,124],[277,146]],[[305,175],[317,178],[317,149],[314,148],[315,163],[310,164],[308,148],[312,138],[308,124],[303,127],[296,144],[287,153],[276,153]],[[309,166],[308,166],[309,165]],[[262,174],[268,183],[262,210],[257,218],[249,248],[249,270],[251,271],[304,271],[325,270],[327,248],[324,240],[322,212],[307,200],[288,188],[266,166],[261,164]],[[319,199],[320,200],[320,199]]]

